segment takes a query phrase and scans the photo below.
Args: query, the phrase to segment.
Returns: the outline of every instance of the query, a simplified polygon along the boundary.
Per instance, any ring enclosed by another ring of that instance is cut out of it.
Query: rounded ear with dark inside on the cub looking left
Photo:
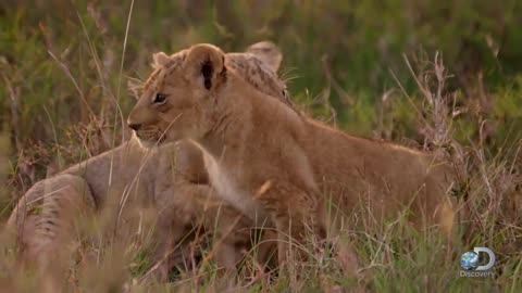
[[[188,79],[210,90],[225,73],[225,54],[220,48],[200,43],[191,47],[184,63]]]

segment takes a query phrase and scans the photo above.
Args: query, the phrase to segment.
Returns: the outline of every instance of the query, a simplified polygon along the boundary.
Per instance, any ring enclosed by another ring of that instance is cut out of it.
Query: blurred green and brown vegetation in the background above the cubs
[[[520,15],[517,0],[2,1],[5,190],[120,143],[129,78],[147,77],[153,52],[196,42],[272,40],[294,99],[316,117],[407,144],[425,135],[415,78],[437,55],[451,74],[453,137],[495,155],[521,138]]]

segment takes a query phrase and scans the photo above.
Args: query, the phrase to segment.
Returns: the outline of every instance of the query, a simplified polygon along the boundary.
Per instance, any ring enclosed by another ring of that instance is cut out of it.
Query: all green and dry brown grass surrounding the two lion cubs
[[[520,15],[517,0],[2,1],[0,217],[37,180],[128,139],[122,118],[135,100],[127,84],[147,77],[153,52],[196,42],[240,51],[269,39],[283,51],[294,101],[311,115],[442,151],[458,170],[453,195],[471,213],[452,251],[436,229],[415,230],[401,216],[361,220],[350,231],[369,276],[360,282],[375,292],[521,292]],[[104,241],[96,227],[84,227],[91,240],[65,259],[66,291],[204,291],[219,281],[211,262],[169,284],[142,282],[147,231]],[[459,256],[474,246],[495,252],[495,279],[459,277]],[[13,246],[1,250],[0,289],[51,290],[46,278],[14,268]],[[88,256],[95,260],[84,265]],[[243,290],[353,288],[339,262],[313,256],[306,278],[269,288],[258,271]]]

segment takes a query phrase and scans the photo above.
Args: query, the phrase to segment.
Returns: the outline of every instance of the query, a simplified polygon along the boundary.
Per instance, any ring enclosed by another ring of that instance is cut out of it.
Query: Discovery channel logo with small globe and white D
[[[483,253],[483,254],[481,254]],[[487,254],[487,264],[484,263],[483,256]],[[482,260],[482,262],[481,262]],[[474,247],[472,252],[463,253],[460,256],[460,266],[464,269],[460,271],[460,277],[490,277],[495,278],[495,272],[488,271],[495,265],[495,254],[488,247]]]

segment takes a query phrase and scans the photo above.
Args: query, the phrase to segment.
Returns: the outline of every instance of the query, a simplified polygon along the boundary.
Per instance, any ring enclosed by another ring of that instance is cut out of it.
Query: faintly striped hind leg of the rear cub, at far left
[[[60,174],[34,184],[8,221],[21,259],[39,267],[53,263],[72,239],[75,217],[94,208],[89,186],[78,176]]]

